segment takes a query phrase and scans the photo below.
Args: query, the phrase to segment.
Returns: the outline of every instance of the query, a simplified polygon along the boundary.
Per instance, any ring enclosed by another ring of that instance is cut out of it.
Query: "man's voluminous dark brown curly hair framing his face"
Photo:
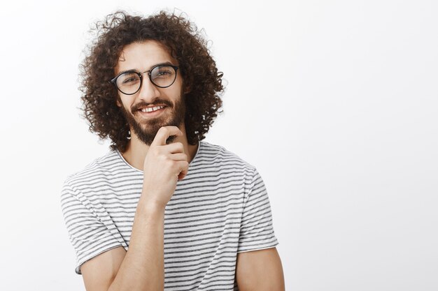
[[[223,73],[209,54],[207,40],[195,24],[181,15],[161,11],[150,17],[132,16],[117,11],[97,22],[92,29],[96,38],[81,64],[80,91],[83,95],[83,117],[89,130],[101,140],[110,137],[111,149],[127,149],[129,125],[116,105],[118,91],[108,80],[114,77],[114,68],[123,47],[144,40],[157,40],[169,48],[178,60],[181,76],[190,91],[185,94],[185,129],[189,144],[205,138],[217,114],[222,112],[220,96]]]

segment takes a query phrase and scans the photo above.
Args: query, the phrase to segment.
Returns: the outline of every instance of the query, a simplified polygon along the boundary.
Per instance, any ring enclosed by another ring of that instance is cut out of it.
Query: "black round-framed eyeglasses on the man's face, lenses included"
[[[115,84],[115,87],[126,95],[136,94],[143,84],[143,74],[148,73],[149,80],[157,87],[167,88],[174,84],[176,80],[177,66],[172,65],[157,65],[139,73],[136,70],[128,70],[113,77],[109,82]]]

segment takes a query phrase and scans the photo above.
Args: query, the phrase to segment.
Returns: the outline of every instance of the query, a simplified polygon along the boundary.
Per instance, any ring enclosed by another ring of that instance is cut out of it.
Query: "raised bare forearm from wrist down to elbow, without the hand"
[[[164,208],[140,199],[129,249],[108,291],[164,290]]]

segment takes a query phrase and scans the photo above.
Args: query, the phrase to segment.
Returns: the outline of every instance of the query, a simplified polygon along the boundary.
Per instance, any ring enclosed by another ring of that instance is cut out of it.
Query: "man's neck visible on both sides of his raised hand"
[[[180,129],[183,132],[183,135],[176,137],[174,142],[181,142],[183,144],[184,153],[188,156],[188,162],[190,163],[193,158],[195,158],[198,144],[188,144],[185,126],[181,126]],[[123,158],[125,158],[125,161],[127,161],[129,165],[143,171],[144,160],[148,154],[149,147],[148,144],[141,142],[139,137],[137,137],[131,129],[131,140],[129,140],[127,150],[120,154],[122,154]]]

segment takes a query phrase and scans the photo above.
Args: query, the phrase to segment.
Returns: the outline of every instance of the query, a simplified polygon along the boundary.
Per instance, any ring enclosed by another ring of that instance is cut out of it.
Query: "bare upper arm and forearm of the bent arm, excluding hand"
[[[164,289],[164,209],[139,202],[128,251],[114,248],[81,267],[87,291]]]

